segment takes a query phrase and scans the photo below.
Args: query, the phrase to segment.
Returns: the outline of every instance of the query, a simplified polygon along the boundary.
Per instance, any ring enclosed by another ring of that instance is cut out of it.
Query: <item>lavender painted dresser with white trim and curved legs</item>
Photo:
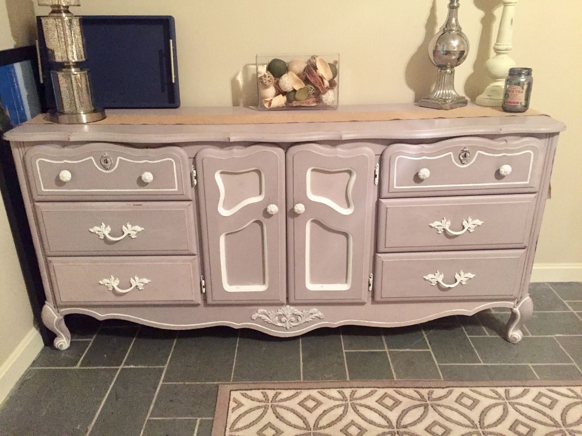
[[[564,128],[520,116],[6,137],[56,348],[70,313],[293,336],[496,306],[519,342]]]

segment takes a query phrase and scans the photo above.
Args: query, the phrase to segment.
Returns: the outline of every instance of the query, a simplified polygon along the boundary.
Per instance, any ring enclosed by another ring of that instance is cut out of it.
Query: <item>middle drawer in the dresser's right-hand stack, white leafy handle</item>
[[[524,248],[535,194],[381,199],[377,251]]]

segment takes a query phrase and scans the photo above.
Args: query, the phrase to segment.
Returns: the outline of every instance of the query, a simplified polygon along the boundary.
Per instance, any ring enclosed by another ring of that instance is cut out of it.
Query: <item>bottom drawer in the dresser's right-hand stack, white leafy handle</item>
[[[375,301],[509,299],[519,294],[525,250],[377,254]]]

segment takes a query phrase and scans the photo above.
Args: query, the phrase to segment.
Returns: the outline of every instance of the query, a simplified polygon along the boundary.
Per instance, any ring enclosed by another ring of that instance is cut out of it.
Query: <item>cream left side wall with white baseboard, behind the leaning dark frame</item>
[[[10,10],[10,18],[9,11]],[[32,2],[0,0],[0,50],[30,44]],[[0,403],[42,347],[4,203],[0,202]]]

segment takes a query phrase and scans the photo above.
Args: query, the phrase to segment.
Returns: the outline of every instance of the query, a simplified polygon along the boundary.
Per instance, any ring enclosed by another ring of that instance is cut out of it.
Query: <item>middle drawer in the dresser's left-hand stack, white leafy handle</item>
[[[47,256],[196,254],[191,201],[36,203]]]

